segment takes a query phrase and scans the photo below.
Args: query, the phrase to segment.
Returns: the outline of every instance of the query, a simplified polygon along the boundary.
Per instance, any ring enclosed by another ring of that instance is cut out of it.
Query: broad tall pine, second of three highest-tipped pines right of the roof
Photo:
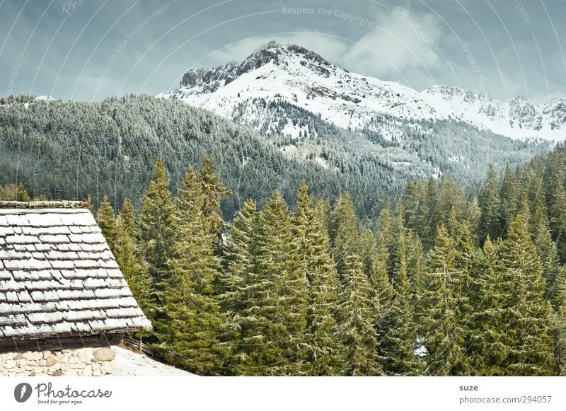
[[[228,353],[221,344],[226,321],[216,293],[221,265],[194,169],[185,174],[175,204],[171,279],[160,293],[166,318],[158,322],[158,347],[177,364],[201,374],[221,374]]]

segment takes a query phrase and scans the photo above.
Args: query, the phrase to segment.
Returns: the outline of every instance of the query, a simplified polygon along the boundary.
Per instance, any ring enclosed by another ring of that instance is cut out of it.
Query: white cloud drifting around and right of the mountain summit
[[[397,7],[391,13],[366,20],[369,32],[362,37],[340,37],[318,30],[250,37],[215,50],[195,66],[240,62],[269,40],[301,45],[350,71],[382,78],[393,76],[405,83],[410,82],[404,76],[408,71],[421,71],[430,79],[429,70],[444,61],[445,51],[440,45],[443,33],[437,16]],[[343,24],[355,25],[349,21]]]

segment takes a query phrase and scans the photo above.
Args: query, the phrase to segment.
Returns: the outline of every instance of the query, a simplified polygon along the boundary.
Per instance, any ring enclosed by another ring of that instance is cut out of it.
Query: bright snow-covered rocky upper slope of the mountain
[[[521,97],[504,103],[487,93],[451,86],[418,92],[400,83],[351,73],[304,47],[277,42],[240,64],[191,69],[180,88],[159,97],[178,98],[230,118],[246,100],[284,101],[338,127],[369,127],[386,138],[394,132],[372,121],[377,113],[403,120],[460,120],[514,139],[566,139],[566,98],[535,106]],[[253,110],[247,115],[249,124],[258,123]],[[294,137],[299,134],[292,125],[285,131]]]

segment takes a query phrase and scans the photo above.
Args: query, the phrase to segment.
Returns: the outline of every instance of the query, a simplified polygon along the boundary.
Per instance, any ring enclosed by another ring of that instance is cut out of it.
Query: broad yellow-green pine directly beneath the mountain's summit
[[[306,359],[307,279],[299,270],[298,244],[287,204],[275,191],[260,212],[257,246],[258,286],[246,309],[243,374],[296,375]]]

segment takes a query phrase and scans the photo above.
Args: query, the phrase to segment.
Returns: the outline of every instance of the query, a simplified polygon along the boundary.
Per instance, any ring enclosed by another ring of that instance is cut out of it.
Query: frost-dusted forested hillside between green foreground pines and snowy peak
[[[0,184],[23,183],[31,197],[91,195],[95,207],[104,195],[117,208],[128,197],[139,209],[158,156],[176,193],[186,166],[196,167],[209,154],[233,192],[221,203],[228,220],[248,197],[263,205],[275,189],[294,204],[302,179],[318,197],[334,200],[350,192],[357,214],[375,219],[384,199],[398,197],[408,180],[451,175],[471,190],[489,161],[523,163],[548,150],[547,143],[449,122],[403,123],[403,140],[386,141],[369,130],[339,129],[291,105],[267,114],[284,122],[293,117],[304,123],[304,134],[262,136],[180,101],[146,95],[93,103],[8,96],[0,100]]]

